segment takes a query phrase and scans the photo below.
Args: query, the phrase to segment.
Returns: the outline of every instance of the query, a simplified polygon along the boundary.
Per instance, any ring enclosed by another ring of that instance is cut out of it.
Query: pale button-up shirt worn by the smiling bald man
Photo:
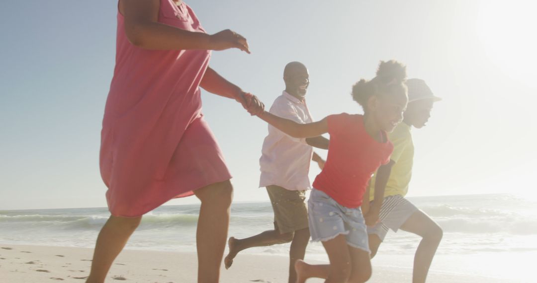
[[[270,113],[301,124],[313,122],[306,102],[285,91],[274,100]],[[269,135],[263,141],[259,159],[259,187],[278,185],[287,190],[311,189],[308,173],[312,155],[313,148],[305,138],[293,138],[269,125]]]

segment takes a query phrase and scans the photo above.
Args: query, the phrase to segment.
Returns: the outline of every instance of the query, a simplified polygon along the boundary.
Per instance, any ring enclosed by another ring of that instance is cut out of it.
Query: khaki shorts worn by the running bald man
[[[290,191],[277,185],[266,187],[280,234],[308,228],[306,190]]]

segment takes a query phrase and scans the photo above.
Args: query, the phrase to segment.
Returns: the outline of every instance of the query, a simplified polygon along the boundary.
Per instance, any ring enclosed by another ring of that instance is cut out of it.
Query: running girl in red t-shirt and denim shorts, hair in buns
[[[297,260],[297,282],[311,277],[324,278],[325,282],[365,282],[371,277],[360,205],[369,178],[389,162],[393,151],[387,132],[403,120],[408,102],[405,77],[403,64],[381,61],[375,78],[358,81],[352,88],[352,97],[362,106],[364,115],[342,113],[308,124],[267,111],[258,115],[292,137],[330,134],[328,158],[308,200],[311,237],[323,243],[330,264],[309,265]]]

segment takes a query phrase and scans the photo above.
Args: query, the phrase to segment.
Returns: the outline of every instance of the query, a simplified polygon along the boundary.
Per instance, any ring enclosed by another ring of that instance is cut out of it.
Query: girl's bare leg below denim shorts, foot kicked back
[[[302,260],[295,265],[297,280],[305,282],[308,278],[323,278],[325,283],[346,283],[351,275],[351,255],[345,235],[338,235],[332,240],[322,242],[330,264],[310,265]]]

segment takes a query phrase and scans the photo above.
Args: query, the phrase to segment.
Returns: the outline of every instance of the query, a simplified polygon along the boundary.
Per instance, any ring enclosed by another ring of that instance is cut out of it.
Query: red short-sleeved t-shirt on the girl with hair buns
[[[379,143],[369,136],[362,115],[328,116],[328,133],[328,158],[313,187],[340,205],[358,207],[362,204],[369,178],[390,161],[394,145],[387,138],[386,142]],[[386,132],[382,135],[387,137]]]

